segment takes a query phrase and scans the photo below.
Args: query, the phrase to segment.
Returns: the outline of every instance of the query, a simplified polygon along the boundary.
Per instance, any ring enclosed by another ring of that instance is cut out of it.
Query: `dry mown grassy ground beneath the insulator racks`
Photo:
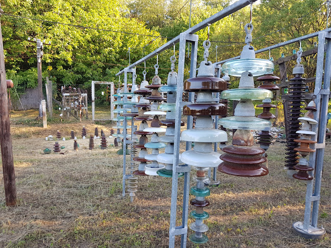
[[[28,114],[31,118],[12,115],[19,202],[6,207],[4,188],[0,187],[0,247],[168,247],[171,179],[139,178],[137,199],[130,203],[128,196],[122,197],[123,157],[116,155],[117,148],[101,150],[98,140],[96,148],[89,151],[88,139],[80,139],[83,125],[88,134],[98,127],[109,135],[112,123],[50,121],[48,129],[43,129],[39,120],[32,120],[36,113]],[[67,138],[74,130],[79,151],[75,152],[73,140],[67,139],[59,141],[65,146],[63,155],[44,155],[42,150],[53,150],[54,144],[44,137],[55,137],[57,130]],[[108,138],[108,144],[112,142]],[[325,149],[318,221],[327,232],[323,240],[293,234],[293,222],[303,220],[306,187],[286,177],[285,144],[276,143],[268,151],[269,176],[241,178],[218,172],[221,184],[211,188],[210,206],[205,208],[210,214],[205,221],[209,241],[200,246],[187,241],[187,247],[331,247],[329,146]],[[179,179],[179,215],[182,189],[183,179]],[[189,218],[189,223],[192,221]],[[179,237],[176,240],[179,247]]]

